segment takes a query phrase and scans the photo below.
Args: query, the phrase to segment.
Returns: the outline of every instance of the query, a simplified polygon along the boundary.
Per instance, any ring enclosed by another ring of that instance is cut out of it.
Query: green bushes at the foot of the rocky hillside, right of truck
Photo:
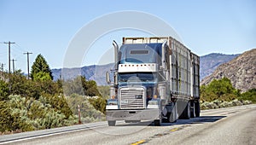
[[[256,103],[256,89],[241,93],[229,78],[213,79],[208,85],[201,85],[201,109],[233,107]]]

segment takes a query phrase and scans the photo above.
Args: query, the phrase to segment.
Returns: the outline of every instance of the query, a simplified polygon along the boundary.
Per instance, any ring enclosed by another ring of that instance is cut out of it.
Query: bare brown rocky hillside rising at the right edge
[[[242,92],[256,88],[256,49],[251,49],[224,63],[210,76],[204,78],[201,84],[209,84],[212,79],[230,78],[236,89]]]

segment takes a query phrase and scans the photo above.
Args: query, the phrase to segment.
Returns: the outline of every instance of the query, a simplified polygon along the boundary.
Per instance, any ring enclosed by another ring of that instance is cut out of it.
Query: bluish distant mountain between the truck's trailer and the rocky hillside
[[[221,64],[233,60],[238,55],[224,55],[212,53],[200,57],[200,80],[212,74]]]

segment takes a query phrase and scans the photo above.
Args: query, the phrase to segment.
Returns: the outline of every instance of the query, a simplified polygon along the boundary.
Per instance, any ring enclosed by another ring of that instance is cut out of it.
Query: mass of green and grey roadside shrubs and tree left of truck
[[[53,81],[43,55],[34,61],[29,79],[20,70],[0,72],[0,135],[78,125],[78,106],[82,123],[105,119],[106,101],[96,82],[81,76]]]

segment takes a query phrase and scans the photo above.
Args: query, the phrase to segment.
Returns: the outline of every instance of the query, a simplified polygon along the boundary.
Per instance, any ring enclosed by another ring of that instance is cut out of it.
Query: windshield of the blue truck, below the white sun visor
[[[155,82],[154,73],[119,73],[119,82]]]

